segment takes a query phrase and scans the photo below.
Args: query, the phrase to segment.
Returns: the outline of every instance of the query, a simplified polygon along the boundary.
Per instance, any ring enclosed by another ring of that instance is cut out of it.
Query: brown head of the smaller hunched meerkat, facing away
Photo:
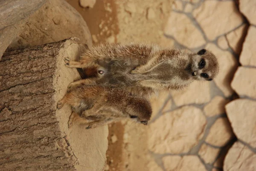
[[[125,110],[131,119],[143,125],[148,125],[152,114],[149,101],[142,98],[131,98]]]

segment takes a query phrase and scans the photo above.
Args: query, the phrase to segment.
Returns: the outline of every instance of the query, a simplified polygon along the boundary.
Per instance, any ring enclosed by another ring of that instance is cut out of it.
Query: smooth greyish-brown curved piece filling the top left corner
[[[46,0],[1,0],[0,30],[33,14],[45,2]]]

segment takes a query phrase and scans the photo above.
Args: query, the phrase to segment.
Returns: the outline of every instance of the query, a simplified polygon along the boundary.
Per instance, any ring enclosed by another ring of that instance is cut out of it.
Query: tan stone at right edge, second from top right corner
[[[256,28],[255,26],[250,26],[240,55],[240,62],[242,65],[250,65],[256,67],[256,41],[254,35],[256,35]]]

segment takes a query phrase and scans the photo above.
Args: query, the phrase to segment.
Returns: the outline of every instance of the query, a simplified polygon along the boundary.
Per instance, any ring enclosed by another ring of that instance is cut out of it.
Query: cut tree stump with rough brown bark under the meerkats
[[[79,78],[63,59],[77,60],[76,39],[5,52],[0,61],[0,170],[99,171],[107,126],[68,129],[71,109],[56,105]],[[99,144],[97,142],[100,142]],[[87,155],[90,154],[90,155]]]

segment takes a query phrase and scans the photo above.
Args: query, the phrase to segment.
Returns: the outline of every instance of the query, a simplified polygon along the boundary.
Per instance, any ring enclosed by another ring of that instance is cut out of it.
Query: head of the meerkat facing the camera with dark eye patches
[[[218,60],[212,52],[201,49],[192,55],[190,68],[194,79],[212,81],[218,74]]]

